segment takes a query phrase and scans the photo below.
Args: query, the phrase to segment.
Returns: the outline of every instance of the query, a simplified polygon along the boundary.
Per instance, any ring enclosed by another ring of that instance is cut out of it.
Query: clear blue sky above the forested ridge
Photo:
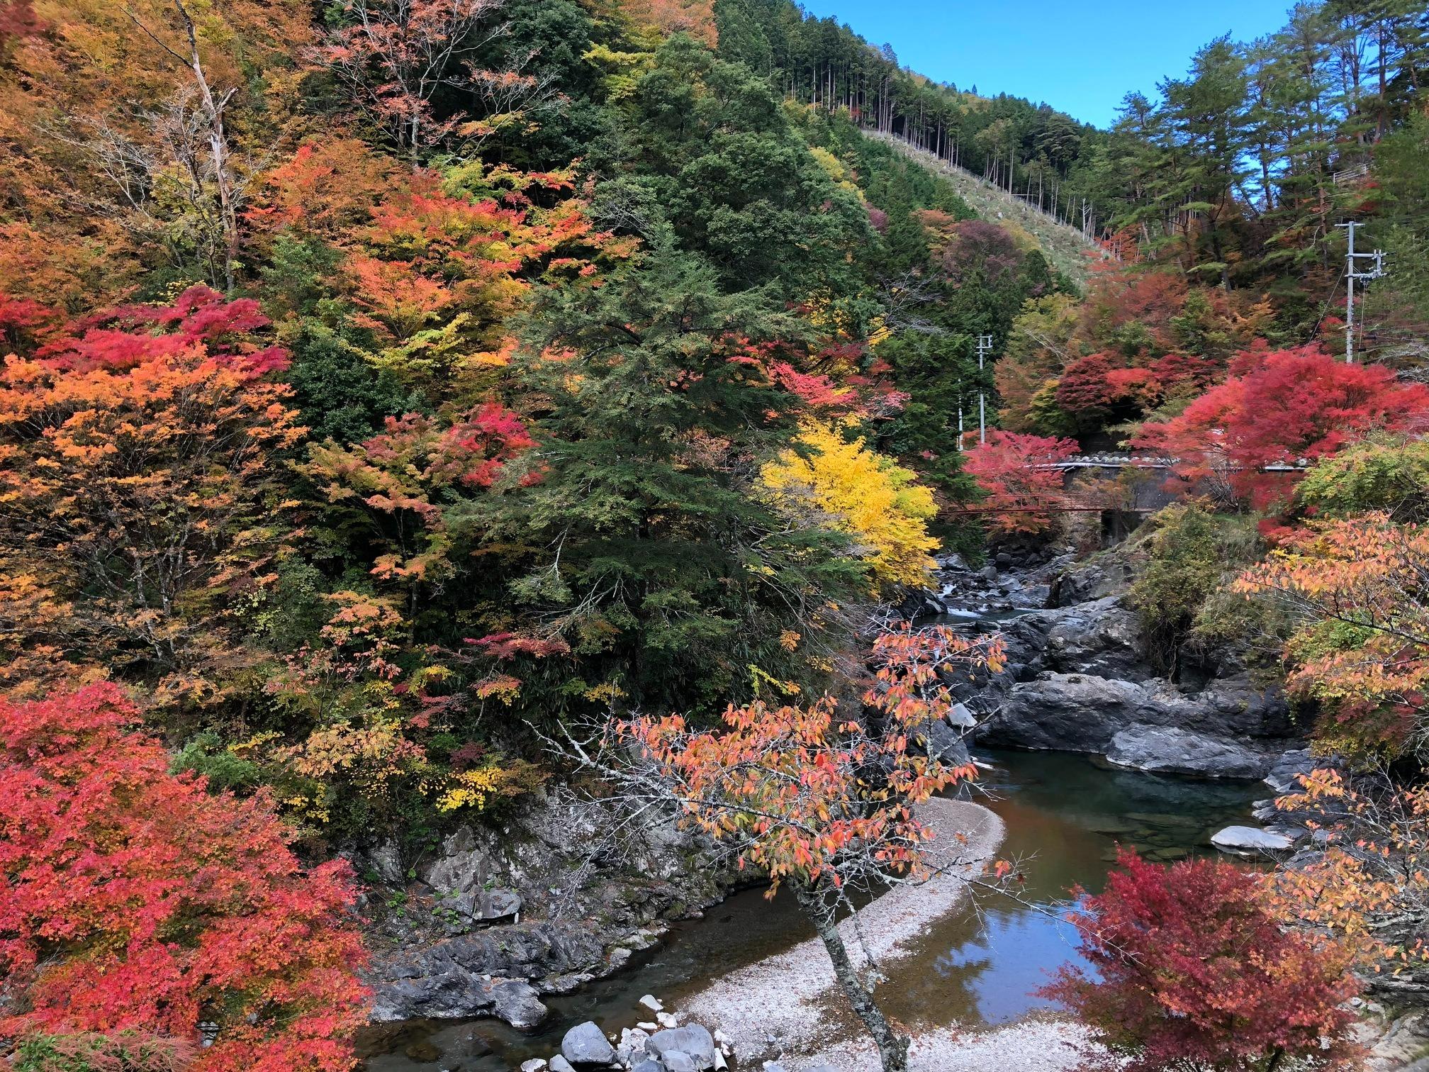
[[[899,61],[959,89],[1045,100],[1107,126],[1130,90],[1152,96],[1223,33],[1250,40],[1285,24],[1290,0],[803,0]]]

